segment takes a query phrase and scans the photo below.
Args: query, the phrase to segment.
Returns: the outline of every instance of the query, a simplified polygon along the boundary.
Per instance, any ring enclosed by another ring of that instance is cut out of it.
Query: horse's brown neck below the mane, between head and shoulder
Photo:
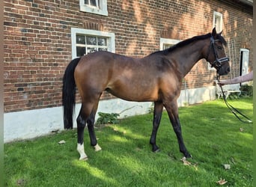
[[[177,67],[183,77],[194,67],[194,65],[202,58],[204,58],[203,49],[204,42],[199,40],[197,42],[191,43],[188,46],[183,46],[179,51],[170,54],[173,56]]]

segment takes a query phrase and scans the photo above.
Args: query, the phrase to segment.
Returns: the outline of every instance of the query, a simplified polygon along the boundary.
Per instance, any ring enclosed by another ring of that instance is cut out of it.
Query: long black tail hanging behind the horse
[[[64,129],[73,129],[73,113],[76,105],[76,82],[74,72],[80,58],[70,61],[63,77],[62,105],[64,107]]]

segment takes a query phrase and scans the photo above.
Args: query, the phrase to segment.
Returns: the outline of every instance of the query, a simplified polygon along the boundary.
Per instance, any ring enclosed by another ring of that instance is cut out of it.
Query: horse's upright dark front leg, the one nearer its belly
[[[152,145],[152,151],[158,152],[159,147],[156,146],[156,133],[159,127],[159,123],[162,117],[162,102],[154,102],[154,109],[153,109],[153,130],[150,137],[150,144]]]

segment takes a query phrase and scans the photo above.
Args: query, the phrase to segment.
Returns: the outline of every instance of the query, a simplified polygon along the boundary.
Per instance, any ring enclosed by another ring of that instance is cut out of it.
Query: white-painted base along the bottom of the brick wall
[[[215,87],[183,90],[178,105],[192,105],[216,98]],[[146,114],[152,102],[128,102],[122,99],[100,101],[98,111],[121,113],[121,118]],[[76,116],[81,104],[76,105]],[[47,135],[55,130],[63,130],[62,107],[17,111],[4,114],[4,143]],[[96,116],[97,118],[98,116]],[[74,119],[74,128],[76,120]]]

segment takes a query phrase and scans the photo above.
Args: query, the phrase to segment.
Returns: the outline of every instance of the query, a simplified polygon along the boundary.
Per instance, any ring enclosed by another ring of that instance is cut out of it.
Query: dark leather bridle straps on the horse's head
[[[228,57],[219,58],[219,55],[216,52],[216,49],[214,46],[214,43],[216,41],[219,41],[219,40],[214,40],[213,36],[210,37],[210,47],[209,47],[209,51],[207,54],[207,61],[208,61],[208,57],[210,55],[210,49],[213,48],[213,54],[215,56],[215,61],[213,61],[213,63],[210,63],[210,64],[212,67],[216,67],[216,69],[219,70],[219,68],[221,68],[223,66],[224,62],[229,61],[229,58]]]

